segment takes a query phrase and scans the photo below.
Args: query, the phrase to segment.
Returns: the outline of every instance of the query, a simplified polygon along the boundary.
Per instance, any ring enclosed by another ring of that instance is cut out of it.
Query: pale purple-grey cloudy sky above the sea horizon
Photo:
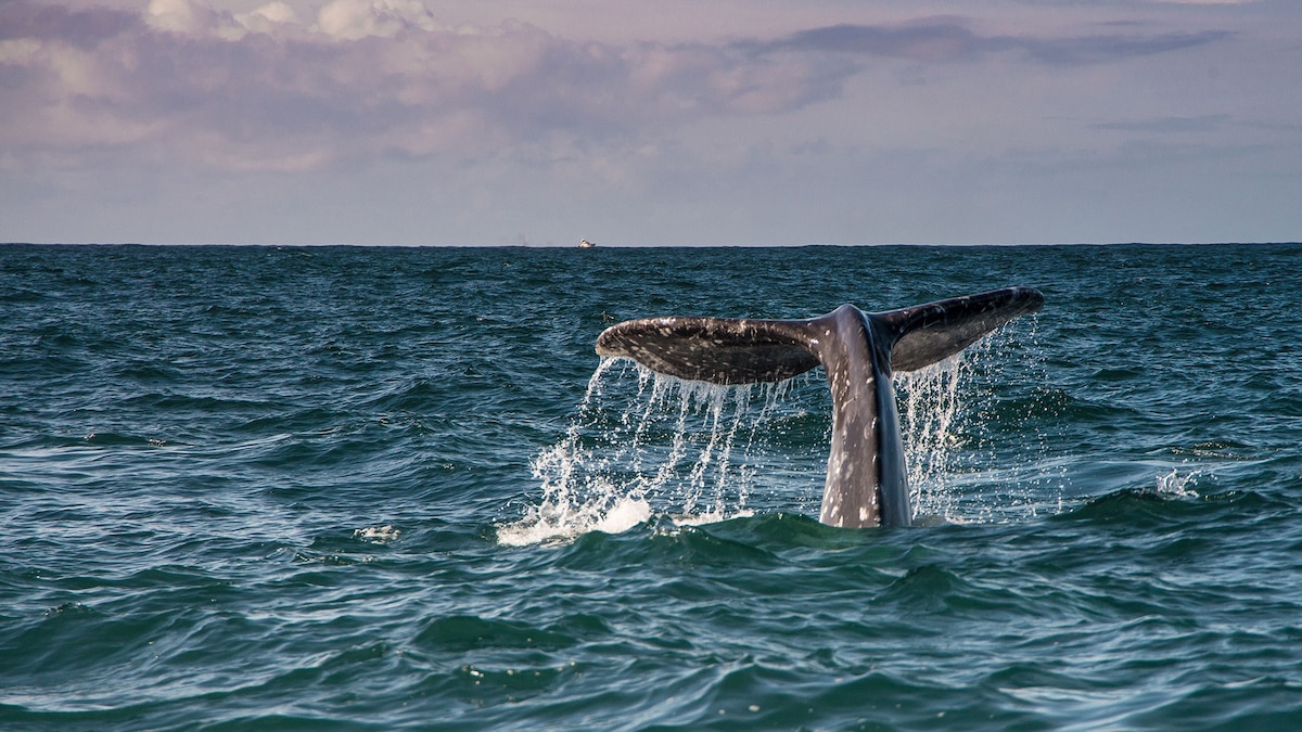
[[[0,241],[1302,240],[1298,0],[0,0]]]

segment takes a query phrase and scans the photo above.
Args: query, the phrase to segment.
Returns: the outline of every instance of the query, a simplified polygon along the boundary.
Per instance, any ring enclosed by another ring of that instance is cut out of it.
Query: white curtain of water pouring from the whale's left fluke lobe
[[[618,533],[658,514],[678,525],[750,516],[763,435],[792,412],[793,382],[723,387],[603,359],[565,438],[533,461],[542,501],[499,525],[499,542]]]

